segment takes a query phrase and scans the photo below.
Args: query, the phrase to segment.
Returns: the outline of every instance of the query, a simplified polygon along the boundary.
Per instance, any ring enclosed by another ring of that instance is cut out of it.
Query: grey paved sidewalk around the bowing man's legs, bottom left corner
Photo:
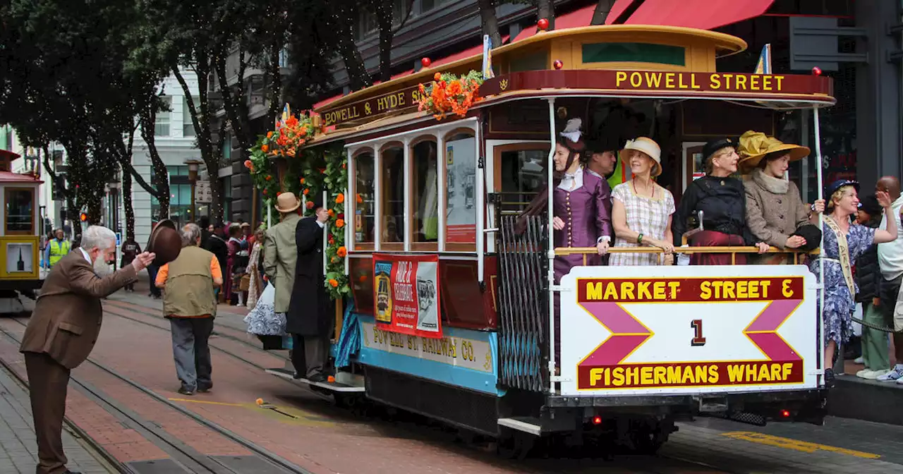
[[[67,468],[82,474],[115,472],[105,469],[65,425],[62,444],[69,458]],[[38,462],[37,453],[28,393],[5,367],[0,367],[0,474],[32,474]]]

